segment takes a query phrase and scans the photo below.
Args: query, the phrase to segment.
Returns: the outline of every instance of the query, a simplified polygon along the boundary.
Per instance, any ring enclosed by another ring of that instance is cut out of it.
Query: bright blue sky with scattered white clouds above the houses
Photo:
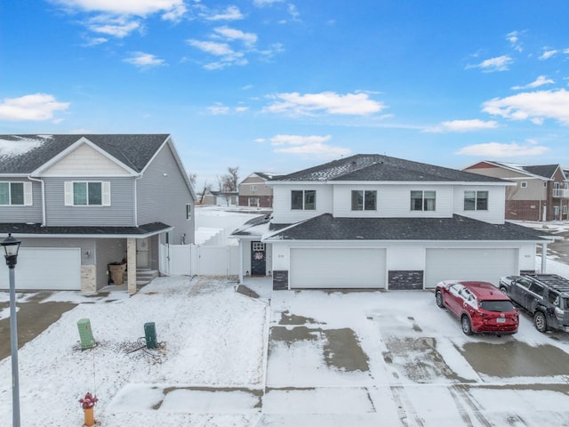
[[[171,133],[204,181],[569,166],[565,0],[4,0],[2,133]]]

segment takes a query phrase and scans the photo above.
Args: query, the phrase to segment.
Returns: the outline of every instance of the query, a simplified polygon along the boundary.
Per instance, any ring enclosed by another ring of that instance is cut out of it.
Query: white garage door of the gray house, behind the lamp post
[[[8,289],[8,267],[2,260],[0,289]],[[81,249],[20,247],[14,270],[16,289],[81,289]]]

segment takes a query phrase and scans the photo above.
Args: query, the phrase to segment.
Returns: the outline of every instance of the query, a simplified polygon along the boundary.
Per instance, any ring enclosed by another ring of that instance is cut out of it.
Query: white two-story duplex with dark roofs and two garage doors
[[[273,214],[233,232],[240,279],[278,288],[434,289],[534,272],[545,232],[504,221],[515,182],[381,155],[268,181]]]

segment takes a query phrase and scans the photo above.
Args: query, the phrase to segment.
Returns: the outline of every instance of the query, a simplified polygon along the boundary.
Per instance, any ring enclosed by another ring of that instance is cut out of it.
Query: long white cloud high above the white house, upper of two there
[[[366,116],[380,112],[386,106],[369,99],[367,93],[276,93],[269,98],[276,100],[264,110],[272,113],[310,115],[321,111],[328,114]]]

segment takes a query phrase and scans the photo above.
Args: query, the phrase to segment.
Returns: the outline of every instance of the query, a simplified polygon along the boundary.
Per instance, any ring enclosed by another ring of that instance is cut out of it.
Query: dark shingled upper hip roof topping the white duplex
[[[507,182],[499,178],[379,154],[357,154],[271,181],[460,181]]]

